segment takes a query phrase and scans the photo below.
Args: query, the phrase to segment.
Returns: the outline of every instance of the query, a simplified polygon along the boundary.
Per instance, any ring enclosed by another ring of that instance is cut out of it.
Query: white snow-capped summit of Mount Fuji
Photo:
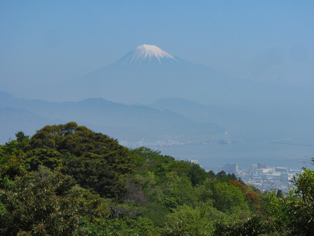
[[[127,61],[130,63],[152,63],[158,61],[161,64],[162,61],[165,60],[170,62],[178,61],[172,55],[157,46],[147,44],[138,46],[127,58]]]

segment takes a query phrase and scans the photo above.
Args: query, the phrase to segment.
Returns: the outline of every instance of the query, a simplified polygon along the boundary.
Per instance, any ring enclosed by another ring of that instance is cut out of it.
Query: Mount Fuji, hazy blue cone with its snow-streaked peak
[[[291,97],[308,99],[307,92],[277,78],[271,84],[234,78],[146,44],[104,68],[43,91],[47,100],[57,93],[61,101],[101,97],[125,104],[180,97],[216,106],[282,107]]]

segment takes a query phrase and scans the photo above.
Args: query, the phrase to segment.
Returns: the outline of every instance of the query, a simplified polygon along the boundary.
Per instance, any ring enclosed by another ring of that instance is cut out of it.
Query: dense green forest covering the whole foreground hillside
[[[0,146],[0,235],[311,235],[314,171],[284,195],[75,122]]]

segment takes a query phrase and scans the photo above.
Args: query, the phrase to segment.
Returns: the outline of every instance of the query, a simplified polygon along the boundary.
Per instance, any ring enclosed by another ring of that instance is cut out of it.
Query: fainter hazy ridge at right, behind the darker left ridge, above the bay
[[[311,144],[310,140],[313,142],[313,137],[308,132],[313,130],[311,120],[314,119],[314,111],[310,109],[311,104],[240,109],[204,105],[172,97],[159,99],[147,106],[160,111],[172,110],[199,122],[210,120],[225,127],[232,134],[242,134],[242,138],[247,140],[296,138],[307,144]]]

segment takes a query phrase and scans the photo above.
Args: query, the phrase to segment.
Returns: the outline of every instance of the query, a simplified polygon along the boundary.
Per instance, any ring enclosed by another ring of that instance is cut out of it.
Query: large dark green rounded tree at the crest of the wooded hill
[[[69,122],[38,130],[29,145],[25,159],[32,170],[44,165],[73,176],[92,193],[123,198],[134,166],[129,150],[116,140]]]

